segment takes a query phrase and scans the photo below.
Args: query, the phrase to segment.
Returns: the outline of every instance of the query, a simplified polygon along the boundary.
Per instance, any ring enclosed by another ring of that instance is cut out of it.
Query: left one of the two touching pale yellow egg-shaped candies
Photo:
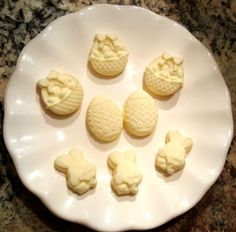
[[[116,103],[107,97],[92,99],[87,110],[87,125],[90,132],[100,141],[116,139],[123,128],[123,117]]]

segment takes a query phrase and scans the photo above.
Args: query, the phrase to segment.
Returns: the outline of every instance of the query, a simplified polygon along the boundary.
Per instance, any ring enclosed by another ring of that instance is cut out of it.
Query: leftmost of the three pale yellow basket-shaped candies
[[[47,78],[38,81],[37,86],[46,109],[54,114],[71,114],[81,105],[82,86],[69,74],[51,71]]]

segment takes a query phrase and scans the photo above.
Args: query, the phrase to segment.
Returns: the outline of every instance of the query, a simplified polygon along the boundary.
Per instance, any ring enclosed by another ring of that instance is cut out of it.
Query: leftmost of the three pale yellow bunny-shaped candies
[[[96,187],[96,167],[84,159],[78,149],[72,149],[68,154],[58,156],[54,167],[65,173],[68,188],[79,195]]]

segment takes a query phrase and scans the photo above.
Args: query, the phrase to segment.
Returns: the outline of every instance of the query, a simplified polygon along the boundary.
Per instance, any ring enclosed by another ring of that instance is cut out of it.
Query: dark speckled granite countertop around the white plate
[[[138,5],[184,25],[214,55],[230,90],[236,119],[236,1],[234,0],[5,0],[0,1],[0,230],[80,231],[81,225],[63,221],[21,183],[3,141],[3,98],[17,57],[33,37],[54,19],[94,3]],[[156,229],[157,230],[157,229]],[[155,231],[156,231],[155,230]],[[224,169],[202,200],[159,231],[236,230],[236,138]]]

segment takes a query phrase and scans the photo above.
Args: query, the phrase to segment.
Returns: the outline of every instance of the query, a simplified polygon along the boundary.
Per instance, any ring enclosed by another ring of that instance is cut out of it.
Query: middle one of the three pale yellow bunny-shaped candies
[[[136,163],[133,151],[112,152],[107,163],[112,170],[111,185],[117,195],[134,195],[142,181],[142,173]]]

